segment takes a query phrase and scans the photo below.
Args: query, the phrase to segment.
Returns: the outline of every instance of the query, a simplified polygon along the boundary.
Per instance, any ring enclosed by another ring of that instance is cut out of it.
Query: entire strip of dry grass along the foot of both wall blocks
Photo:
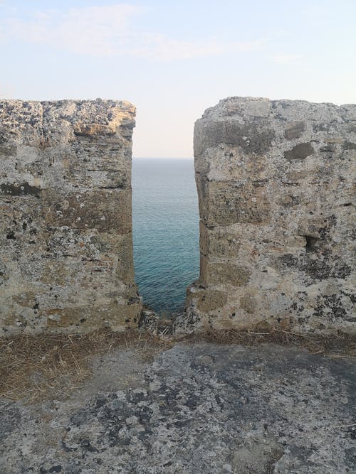
[[[182,341],[182,340],[181,340]],[[258,325],[250,330],[210,330],[184,338],[186,343],[296,345],[313,354],[356,357],[356,339],[293,333],[287,328]],[[91,361],[118,348],[130,348],[145,360],[159,350],[171,348],[174,340],[138,330],[112,333],[96,330],[85,335],[16,335],[0,338],[0,397],[38,402],[66,399],[91,375]]]

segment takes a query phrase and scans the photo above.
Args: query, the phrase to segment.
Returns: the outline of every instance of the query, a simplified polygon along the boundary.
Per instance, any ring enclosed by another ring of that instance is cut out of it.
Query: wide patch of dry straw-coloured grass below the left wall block
[[[171,345],[137,330],[9,336],[0,339],[0,397],[28,403],[65,399],[90,377],[94,356],[130,348],[149,359],[155,351]]]

